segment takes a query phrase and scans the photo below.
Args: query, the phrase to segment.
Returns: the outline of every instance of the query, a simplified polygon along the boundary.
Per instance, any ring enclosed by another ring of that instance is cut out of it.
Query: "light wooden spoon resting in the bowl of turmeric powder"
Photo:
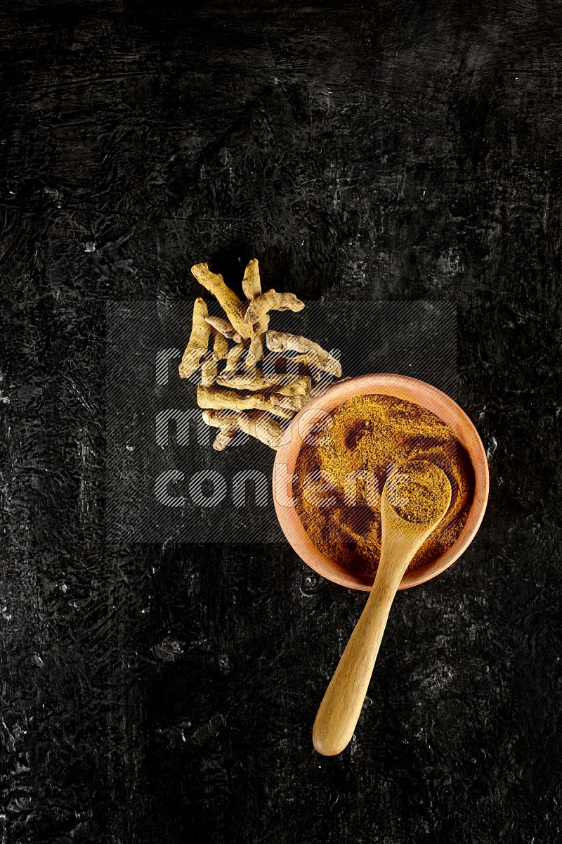
[[[416,463],[418,467],[419,463]],[[313,744],[318,753],[324,756],[335,756],[349,744],[361,714],[399,583],[416,551],[441,522],[451,503],[451,484],[447,475],[435,466],[431,468],[439,487],[433,491],[438,493],[436,500],[439,500],[441,506],[431,522],[408,522],[400,517],[388,501],[389,490],[391,500],[394,500],[392,474],[384,484],[381,498],[381,559],[375,582],[314,722]],[[408,473],[408,468],[403,468],[401,472],[404,479],[404,472]],[[411,478],[415,482],[415,468],[412,469]]]

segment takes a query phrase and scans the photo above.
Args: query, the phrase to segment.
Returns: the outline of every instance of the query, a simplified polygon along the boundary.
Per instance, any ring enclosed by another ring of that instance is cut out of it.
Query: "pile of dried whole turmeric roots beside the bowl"
[[[201,367],[197,403],[205,408],[206,424],[219,429],[213,448],[227,448],[238,430],[277,448],[284,423],[308,398],[324,391],[326,376],[341,376],[340,363],[312,340],[269,330],[270,311],[302,311],[304,304],[292,293],[274,289],[262,293],[256,258],[244,271],[245,301],[227,287],[222,275],[211,273],[208,264],[195,264],[191,272],[225,313],[225,318],[210,317],[204,300],[195,300],[190,339],[179,365],[182,378]],[[285,371],[266,372],[260,364],[264,344],[281,357],[287,352],[297,354],[284,355]],[[302,367],[310,374],[303,375]]]

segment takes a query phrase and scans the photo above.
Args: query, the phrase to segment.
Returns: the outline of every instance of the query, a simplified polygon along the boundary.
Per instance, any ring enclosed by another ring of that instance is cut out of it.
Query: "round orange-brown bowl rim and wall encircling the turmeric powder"
[[[431,384],[401,375],[386,373],[366,375],[351,378],[349,381],[340,381],[334,387],[330,387],[324,393],[324,396],[313,398],[308,402],[292,419],[292,424],[287,428],[276,454],[273,466],[273,499],[276,514],[281,530],[285,533],[289,543],[311,569],[327,577],[328,580],[339,583],[340,586],[364,591],[371,589],[372,576],[349,571],[340,565],[337,560],[330,560],[318,551],[308,538],[308,533],[302,527],[292,502],[292,473],[295,471],[295,464],[297,463],[298,452],[302,447],[303,438],[307,436],[314,423],[321,419],[327,411],[346,402],[349,398],[366,393],[379,393],[385,396],[402,398],[431,410],[431,413],[447,422],[447,425],[451,425],[458,441],[468,452],[468,457],[474,468],[474,499],[468,511],[468,519],[462,533],[445,554],[436,557],[430,563],[420,565],[415,571],[406,571],[399,587],[406,589],[441,574],[455,560],[458,560],[458,557],[463,554],[468,544],[474,539],[484,517],[488,501],[488,462],[478,432],[458,404],[441,390],[431,387]]]

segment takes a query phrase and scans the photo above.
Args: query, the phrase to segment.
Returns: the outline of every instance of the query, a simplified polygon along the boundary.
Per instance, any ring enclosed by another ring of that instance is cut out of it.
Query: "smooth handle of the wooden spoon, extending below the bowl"
[[[313,727],[313,744],[324,756],[341,753],[350,742],[383,639],[388,613],[405,568],[379,566],[371,593],[330,680]]]

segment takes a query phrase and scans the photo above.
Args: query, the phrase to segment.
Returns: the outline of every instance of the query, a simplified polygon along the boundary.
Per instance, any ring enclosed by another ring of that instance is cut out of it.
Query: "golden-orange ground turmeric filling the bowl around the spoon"
[[[356,396],[318,422],[298,454],[292,483],[297,516],[318,551],[350,571],[374,575],[383,486],[390,473],[416,460],[447,474],[452,499],[409,571],[441,556],[463,530],[474,497],[467,452],[436,414],[393,396]],[[413,520],[424,520],[423,508],[420,501]]]

